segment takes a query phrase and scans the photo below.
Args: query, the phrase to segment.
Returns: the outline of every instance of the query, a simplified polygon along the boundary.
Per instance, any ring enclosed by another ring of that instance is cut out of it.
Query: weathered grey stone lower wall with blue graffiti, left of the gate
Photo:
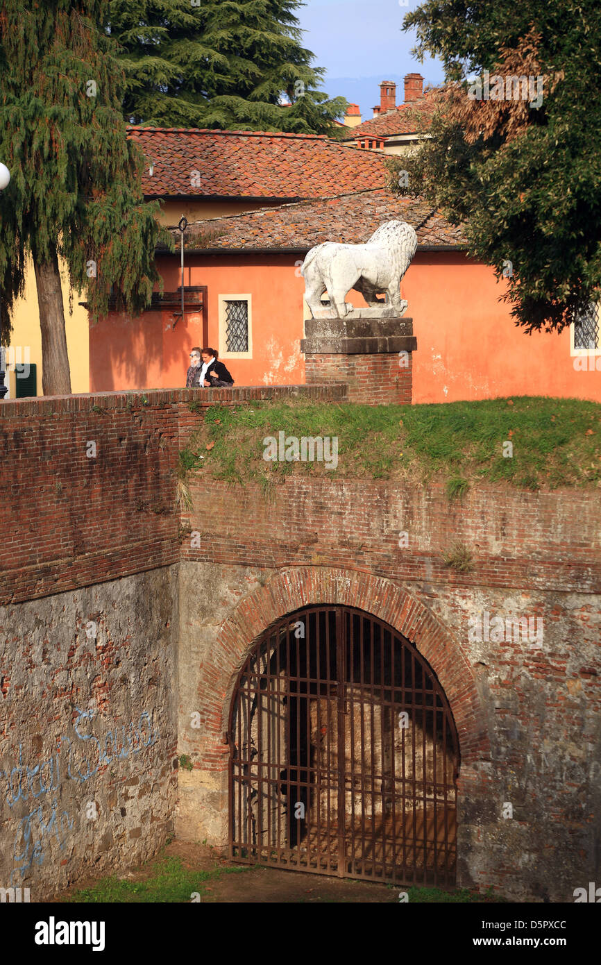
[[[177,568],[0,607],[0,881],[32,901],[173,829]]]

